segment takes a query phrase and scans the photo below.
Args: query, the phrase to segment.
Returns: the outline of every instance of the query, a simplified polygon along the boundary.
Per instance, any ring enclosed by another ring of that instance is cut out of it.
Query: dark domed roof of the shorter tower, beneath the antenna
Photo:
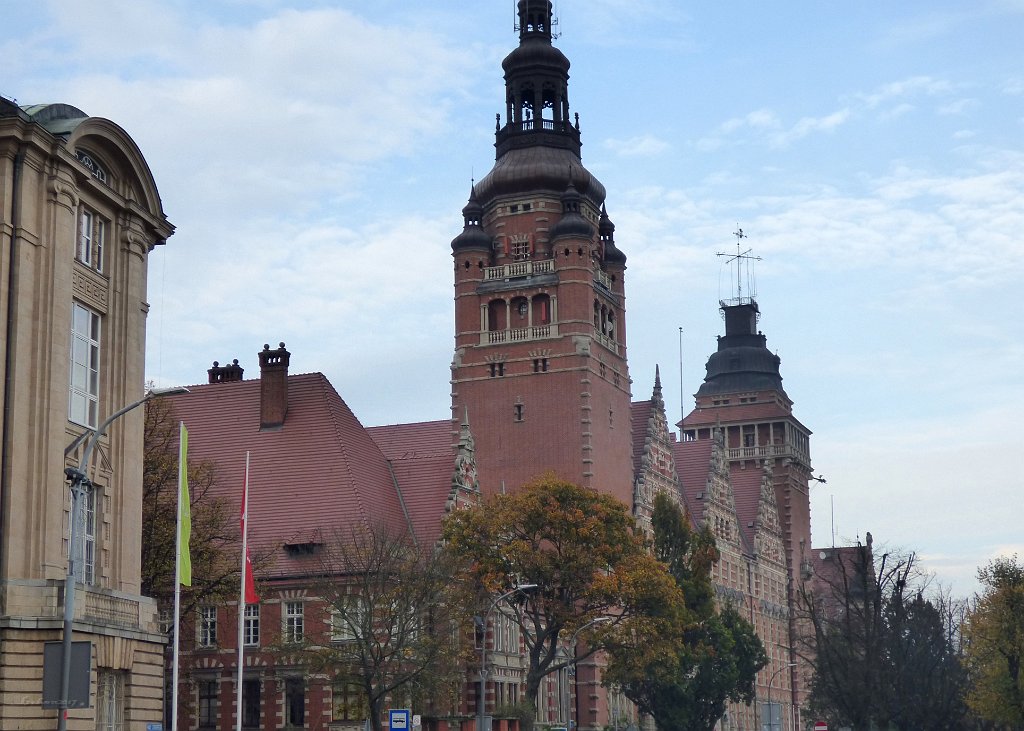
[[[758,303],[754,300],[734,305],[723,303],[722,312],[725,335],[719,336],[718,351],[708,358],[708,375],[697,397],[769,390],[785,395],[779,357],[768,350],[767,339],[757,330]]]

